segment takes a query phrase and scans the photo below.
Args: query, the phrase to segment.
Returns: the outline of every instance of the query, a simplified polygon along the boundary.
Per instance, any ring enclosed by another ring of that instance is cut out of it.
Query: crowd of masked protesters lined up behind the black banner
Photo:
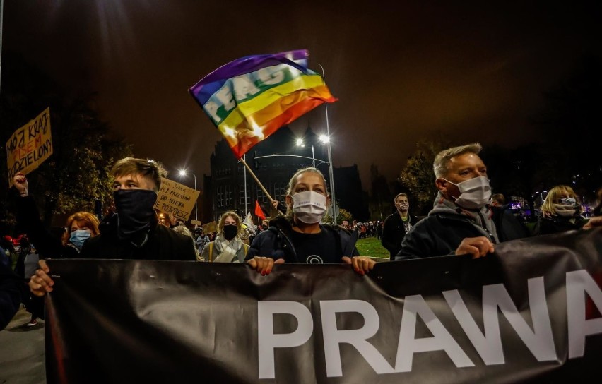
[[[479,143],[471,143],[439,152],[433,164],[437,196],[421,220],[410,213],[406,193],[395,196],[395,212],[372,225],[391,260],[464,254],[480,258],[502,241],[602,225],[602,192],[598,192],[596,216],[584,220],[572,188],[555,186],[541,207],[536,230],[529,231],[507,210],[503,196],[492,195],[487,167],[478,155],[481,149]],[[316,168],[295,172],[285,206],[273,202],[285,213],[249,228],[236,212],[225,212],[216,232],[210,234],[202,227],[191,230],[184,222],[159,224],[153,205],[165,176],[163,166],[153,160],[126,157],[117,161],[112,168],[114,212],[102,222],[90,212],[76,212],[66,220],[66,232],[59,239],[42,224],[27,178],[16,174],[16,219],[28,241],[35,244],[40,260],[35,271],[22,268],[18,273],[9,268],[6,258],[0,263],[0,325],[6,326],[16,302],[25,303],[32,322],[43,318],[40,298],[52,292],[54,285],[46,258],[246,263],[261,275],[282,263],[345,263],[360,275],[374,268],[374,259],[360,255],[355,246],[362,230],[322,223],[331,200],[324,175]],[[0,256],[4,253],[3,249]]]

